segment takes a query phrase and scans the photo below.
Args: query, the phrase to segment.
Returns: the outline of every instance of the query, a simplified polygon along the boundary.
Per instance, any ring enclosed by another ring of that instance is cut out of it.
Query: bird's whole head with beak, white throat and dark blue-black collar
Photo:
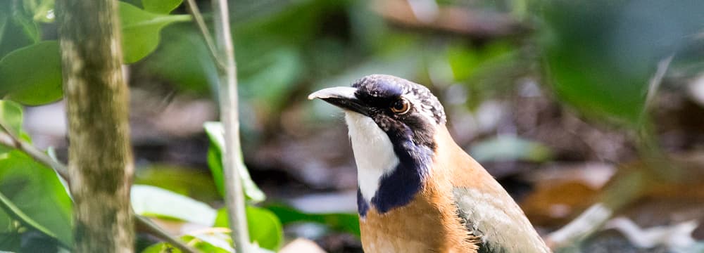
[[[429,173],[434,134],[446,122],[439,100],[425,86],[386,74],[363,77],[351,87],[315,91],[308,96],[314,98],[346,114],[358,197],[381,212],[408,203]]]

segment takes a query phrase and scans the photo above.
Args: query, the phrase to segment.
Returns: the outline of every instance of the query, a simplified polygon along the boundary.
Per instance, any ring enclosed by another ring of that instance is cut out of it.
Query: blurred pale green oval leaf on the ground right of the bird
[[[498,136],[472,146],[470,154],[479,162],[513,161],[546,162],[553,157],[550,148],[542,143],[517,136]]]

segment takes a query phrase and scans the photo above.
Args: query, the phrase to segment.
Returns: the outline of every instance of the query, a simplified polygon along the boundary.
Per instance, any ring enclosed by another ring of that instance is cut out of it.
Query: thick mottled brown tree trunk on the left
[[[76,252],[132,252],[132,151],[117,0],[56,0]]]

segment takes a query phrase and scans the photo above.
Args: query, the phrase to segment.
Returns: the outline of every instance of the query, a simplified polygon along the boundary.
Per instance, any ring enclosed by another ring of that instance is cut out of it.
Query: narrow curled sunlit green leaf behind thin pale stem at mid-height
[[[225,149],[225,136],[223,135],[225,133],[220,122],[206,122],[203,124],[203,127],[206,129],[206,133],[210,138],[210,148],[208,148],[208,167],[210,167],[210,171],[213,173],[215,186],[218,186],[220,194],[225,195],[225,189],[223,187],[225,179],[222,174],[222,150]],[[257,187],[256,183],[252,181],[244,162],[237,162],[239,176],[242,179],[242,188],[244,188],[244,195],[247,197],[247,200],[255,203],[264,201],[266,196]]]

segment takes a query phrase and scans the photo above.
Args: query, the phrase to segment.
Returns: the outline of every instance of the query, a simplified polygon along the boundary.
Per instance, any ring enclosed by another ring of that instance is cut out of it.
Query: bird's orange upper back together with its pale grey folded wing
[[[467,231],[481,238],[479,252],[550,252],[513,198],[446,129],[436,141],[435,166],[451,175],[455,211]]]

